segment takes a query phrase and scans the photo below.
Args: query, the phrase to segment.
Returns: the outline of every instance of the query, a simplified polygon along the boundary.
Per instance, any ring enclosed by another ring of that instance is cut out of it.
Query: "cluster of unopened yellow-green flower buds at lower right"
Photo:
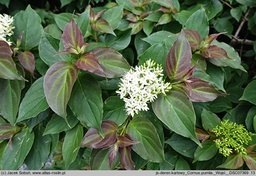
[[[243,144],[248,144],[252,140],[253,134],[248,132],[243,125],[238,125],[229,120],[223,120],[221,126],[217,125],[212,132],[216,136],[220,136],[219,139],[214,140],[219,152],[225,157],[233,153],[235,150],[237,153],[246,154],[246,149]]]

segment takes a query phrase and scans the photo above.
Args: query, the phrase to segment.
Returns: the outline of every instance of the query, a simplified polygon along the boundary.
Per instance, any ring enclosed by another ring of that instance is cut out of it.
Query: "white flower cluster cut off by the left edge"
[[[6,41],[11,45],[12,42],[10,42],[10,39],[6,39],[6,37],[13,34],[13,29],[13,17],[0,14],[0,40]]]

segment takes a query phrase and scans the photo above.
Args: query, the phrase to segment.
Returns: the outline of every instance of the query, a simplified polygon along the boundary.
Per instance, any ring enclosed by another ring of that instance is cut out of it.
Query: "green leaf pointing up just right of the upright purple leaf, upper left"
[[[81,13],[77,18],[75,18],[75,22],[77,23],[78,27],[81,29],[81,32],[84,37],[87,32],[87,28],[89,27],[89,20],[90,20],[89,18],[90,18],[89,7],[87,7],[87,9],[83,13]]]

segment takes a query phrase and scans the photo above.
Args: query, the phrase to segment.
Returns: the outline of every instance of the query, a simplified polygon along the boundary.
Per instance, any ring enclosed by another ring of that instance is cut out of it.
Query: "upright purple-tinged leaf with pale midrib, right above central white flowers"
[[[181,29],[178,40],[173,43],[166,56],[165,70],[168,78],[179,79],[185,75],[190,69],[191,59],[190,45]]]

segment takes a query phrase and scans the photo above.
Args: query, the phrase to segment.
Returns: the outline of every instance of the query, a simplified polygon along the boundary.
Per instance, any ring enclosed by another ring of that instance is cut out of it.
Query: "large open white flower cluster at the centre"
[[[163,80],[161,65],[157,64],[156,68],[155,65],[156,63],[149,59],[144,65],[136,66],[123,75],[117,93],[125,101],[128,115],[134,116],[134,113],[138,114],[141,110],[149,110],[149,101],[154,101],[159,93],[166,95],[165,92],[171,89],[170,83]]]

